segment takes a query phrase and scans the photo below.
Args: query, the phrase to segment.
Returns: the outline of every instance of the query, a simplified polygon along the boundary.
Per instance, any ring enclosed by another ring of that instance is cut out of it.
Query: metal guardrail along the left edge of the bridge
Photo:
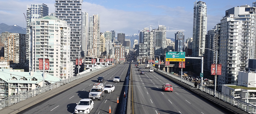
[[[0,109],[5,108],[6,106],[11,106],[15,103],[26,100],[30,97],[34,97],[34,96],[39,95],[41,93],[44,93],[48,90],[55,89],[55,88],[60,87],[64,84],[67,84],[69,82],[75,81],[75,80],[80,79],[80,78],[83,78],[85,76],[88,76],[92,73],[96,73],[97,71],[103,70],[103,69],[111,67],[111,66],[113,66],[113,65],[109,65],[107,67],[102,67],[102,68],[99,68],[97,70],[93,70],[93,71],[90,71],[90,72],[87,72],[87,73],[84,73],[84,74],[79,74],[79,76],[74,76],[72,78],[65,79],[65,80],[62,80],[62,81],[59,81],[59,82],[55,82],[53,84],[49,84],[49,85],[44,86],[44,87],[39,87],[39,88],[29,90],[29,91],[24,92],[24,93],[20,93],[18,95],[14,95],[14,96],[5,98],[3,100],[0,100]]]

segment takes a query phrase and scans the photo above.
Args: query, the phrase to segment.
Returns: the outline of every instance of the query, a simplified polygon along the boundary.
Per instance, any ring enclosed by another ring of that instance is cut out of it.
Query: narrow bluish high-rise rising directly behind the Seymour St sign
[[[184,51],[184,38],[185,35],[183,32],[175,33],[175,47],[174,51],[183,52]]]

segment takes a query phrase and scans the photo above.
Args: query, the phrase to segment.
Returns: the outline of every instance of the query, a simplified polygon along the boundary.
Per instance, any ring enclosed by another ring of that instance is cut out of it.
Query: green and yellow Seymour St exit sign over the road
[[[166,61],[185,61],[185,52],[166,52],[165,53]]]

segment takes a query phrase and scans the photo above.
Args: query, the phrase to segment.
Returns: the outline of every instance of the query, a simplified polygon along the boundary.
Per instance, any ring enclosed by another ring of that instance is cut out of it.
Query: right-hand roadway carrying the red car
[[[163,76],[149,72],[144,65],[139,68],[145,74],[140,74],[135,62],[131,64],[133,114],[225,114]],[[165,83],[173,86],[173,92],[162,91]]]

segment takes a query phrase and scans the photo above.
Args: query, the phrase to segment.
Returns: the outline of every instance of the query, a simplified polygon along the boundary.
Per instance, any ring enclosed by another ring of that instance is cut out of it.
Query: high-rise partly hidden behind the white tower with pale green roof
[[[26,62],[27,65],[29,65],[29,71],[32,70],[32,43],[34,43],[32,39],[32,31],[31,31],[31,22],[33,22],[35,19],[48,16],[49,14],[49,8],[45,4],[31,4],[31,6],[27,5],[27,11],[26,11]]]

